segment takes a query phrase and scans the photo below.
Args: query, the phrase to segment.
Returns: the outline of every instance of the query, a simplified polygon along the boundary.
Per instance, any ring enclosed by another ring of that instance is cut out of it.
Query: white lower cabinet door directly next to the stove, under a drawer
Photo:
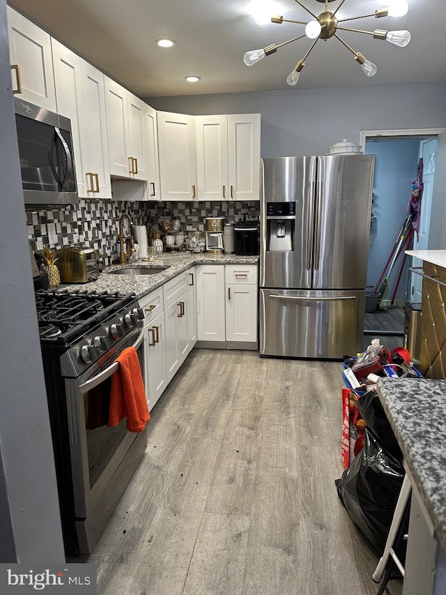
[[[144,326],[144,357],[146,359],[144,368],[146,398],[148,409],[151,411],[167,386],[164,312],[160,312]]]

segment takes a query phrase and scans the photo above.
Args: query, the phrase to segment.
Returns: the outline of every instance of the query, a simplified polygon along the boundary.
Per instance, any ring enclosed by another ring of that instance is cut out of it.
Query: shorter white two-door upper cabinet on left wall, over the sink
[[[110,174],[146,180],[146,104],[105,77]]]

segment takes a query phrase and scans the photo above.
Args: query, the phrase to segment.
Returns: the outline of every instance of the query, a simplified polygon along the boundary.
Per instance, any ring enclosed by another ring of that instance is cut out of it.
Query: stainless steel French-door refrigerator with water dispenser
[[[260,355],[362,351],[373,155],[262,160]]]

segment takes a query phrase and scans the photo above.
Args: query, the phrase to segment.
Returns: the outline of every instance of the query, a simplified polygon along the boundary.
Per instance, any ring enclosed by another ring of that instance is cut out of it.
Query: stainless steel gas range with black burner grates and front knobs
[[[107,425],[111,377],[126,347],[144,377],[143,318],[134,294],[36,292],[40,346],[67,556],[98,541],[146,449],[146,431]]]

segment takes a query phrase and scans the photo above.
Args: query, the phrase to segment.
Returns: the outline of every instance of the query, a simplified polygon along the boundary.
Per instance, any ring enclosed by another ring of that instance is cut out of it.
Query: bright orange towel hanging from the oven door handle
[[[116,361],[119,362],[119,369],[112,375],[109,425],[118,425],[127,417],[127,429],[130,432],[142,432],[151,415],[136,349],[124,349]]]

